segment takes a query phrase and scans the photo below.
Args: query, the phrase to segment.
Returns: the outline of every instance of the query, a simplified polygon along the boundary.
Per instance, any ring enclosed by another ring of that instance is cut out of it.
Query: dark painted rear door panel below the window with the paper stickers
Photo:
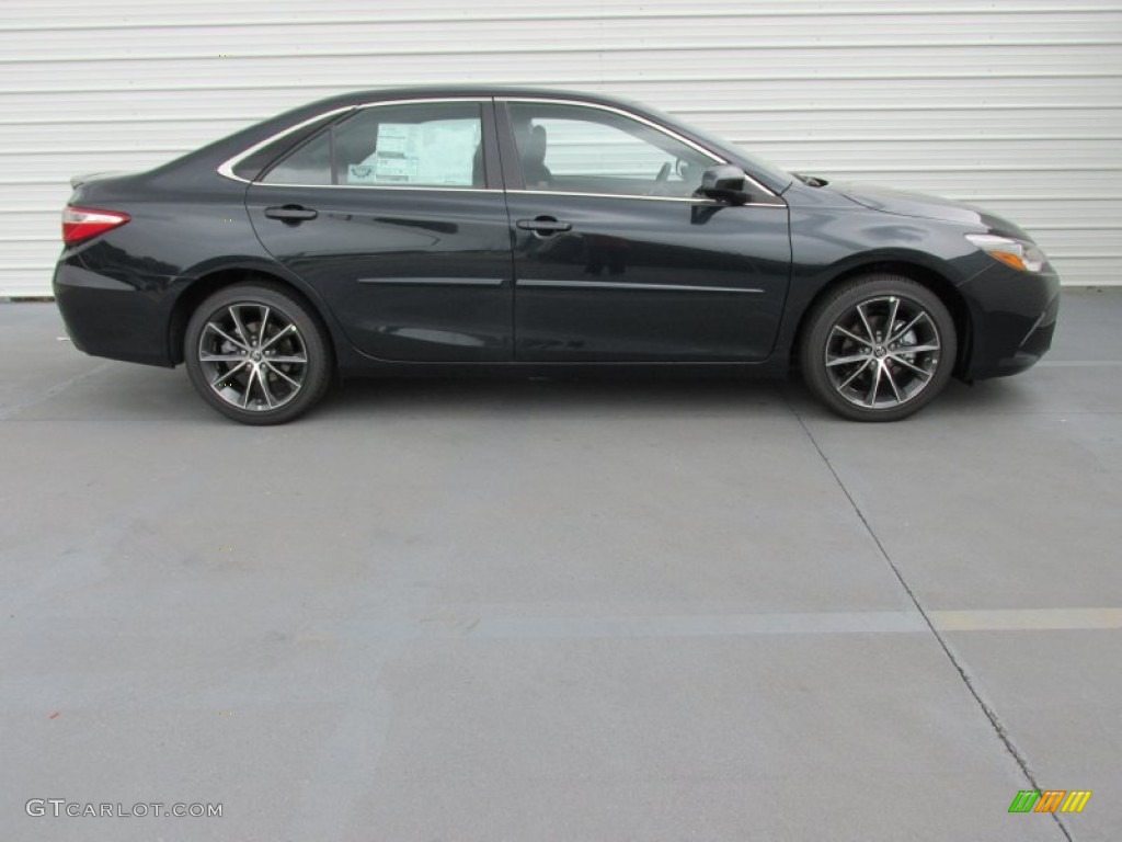
[[[364,354],[432,363],[511,358],[509,223],[500,191],[254,185],[246,203],[265,248],[319,290]],[[295,225],[268,219],[264,209],[275,205],[319,216]]]

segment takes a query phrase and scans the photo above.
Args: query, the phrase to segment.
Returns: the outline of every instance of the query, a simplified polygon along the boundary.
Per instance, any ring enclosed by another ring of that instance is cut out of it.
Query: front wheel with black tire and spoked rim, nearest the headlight
[[[871,274],[815,305],[799,353],[807,386],[830,410],[854,421],[899,421],[947,385],[957,347],[955,320],[938,295],[902,275]]]

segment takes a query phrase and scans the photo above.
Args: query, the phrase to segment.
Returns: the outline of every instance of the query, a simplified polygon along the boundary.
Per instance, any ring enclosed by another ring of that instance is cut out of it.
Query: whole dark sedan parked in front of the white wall
[[[1058,308],[1012,222],[592,94],[352,93],[73,187],[54,289],[74,344],[185,363],[255,424],[337,376],[794,361],[834,411],[889,421],[1031,366]]]

